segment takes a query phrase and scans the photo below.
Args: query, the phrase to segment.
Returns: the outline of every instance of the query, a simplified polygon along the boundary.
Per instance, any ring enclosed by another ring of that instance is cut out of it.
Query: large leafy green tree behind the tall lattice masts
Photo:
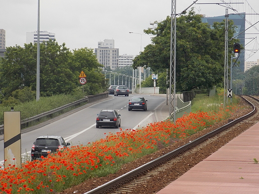
[[[224,79],[225,22],[215,22],[211,28],[202,23],[202,16],[193,9],[177,18],[176,31],[176,90],[211,89]],[[171,18],[157,23],[154,29],[144,30],[154,35],[152,43],[133,60],[133,68],[150,67],[154,73],[170,68]],[[229,22],[229,37],[235,26]],[[235,40],[236,41],[236,40]],[[233,45],[234,40],[229,41]],[[229,49],[231,56],[232,46]],[[165,85],[165,83],[164,83]]]

